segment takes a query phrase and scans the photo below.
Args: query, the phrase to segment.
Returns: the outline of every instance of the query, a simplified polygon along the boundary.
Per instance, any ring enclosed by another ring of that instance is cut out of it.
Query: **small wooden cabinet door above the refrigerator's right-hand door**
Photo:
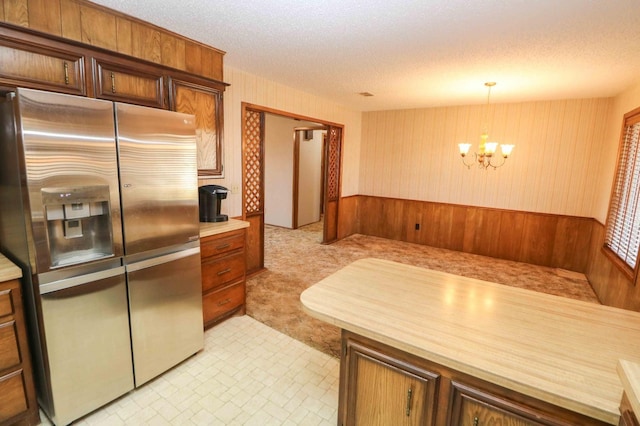
[[[93,60],[96,98],[164,108],[164,78],[141,67]]]

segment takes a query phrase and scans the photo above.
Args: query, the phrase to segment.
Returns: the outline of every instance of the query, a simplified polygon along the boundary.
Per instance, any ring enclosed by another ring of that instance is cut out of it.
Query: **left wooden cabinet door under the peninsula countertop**
[[[349,341],[348,425],[432,425],[438,375]]]

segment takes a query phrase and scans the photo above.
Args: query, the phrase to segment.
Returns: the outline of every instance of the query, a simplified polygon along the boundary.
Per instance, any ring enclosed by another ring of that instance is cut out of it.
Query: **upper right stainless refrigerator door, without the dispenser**
[[[125,254],[199,236],[195,118],[115,104]]]

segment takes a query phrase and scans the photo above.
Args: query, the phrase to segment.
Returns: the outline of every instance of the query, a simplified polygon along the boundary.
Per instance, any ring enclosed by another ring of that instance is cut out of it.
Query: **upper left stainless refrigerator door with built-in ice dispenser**
[[[34,273],[122,256],[112,103],[17,89],[13,104]]]

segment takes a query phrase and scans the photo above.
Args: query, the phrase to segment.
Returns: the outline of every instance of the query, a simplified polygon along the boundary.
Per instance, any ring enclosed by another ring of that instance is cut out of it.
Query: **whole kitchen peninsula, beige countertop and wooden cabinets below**
[[[638,312],[385,260],[300,299],[343,330],[338,424],[618,424],[640,361]]]

